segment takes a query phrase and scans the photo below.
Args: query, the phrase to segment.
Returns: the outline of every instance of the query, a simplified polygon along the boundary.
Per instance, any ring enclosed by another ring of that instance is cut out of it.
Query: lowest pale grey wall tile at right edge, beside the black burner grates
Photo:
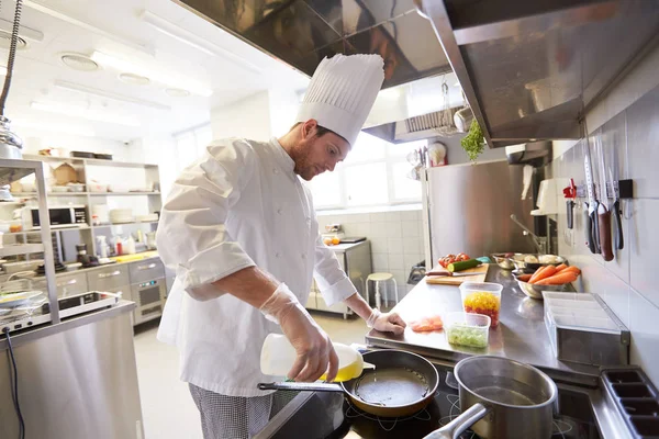
[[[632,363],[638,364],[655,385],[659,385],[659,307],[648,302],[641,294],[629,291]]]

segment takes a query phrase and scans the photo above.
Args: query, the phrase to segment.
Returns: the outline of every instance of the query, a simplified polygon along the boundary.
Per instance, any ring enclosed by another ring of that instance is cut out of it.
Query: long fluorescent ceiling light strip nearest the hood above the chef
[[[144,11],[142,13],[142,21],[149,24],[156,31],[170,36],[183,44],[189,45],[200,52],[203,52],[206,55],[211,56],[223,56],[228,58],[231,61],[237,64],[239,67],[243,67],[254,74],[260,75],[261,69],[249,63],[243,57],[239,57],[230,50],[220,47],[213,43],[208,42],[205,38],[200,37],[193,32],[188,31],[179,26],[178,24],[174,24],[172,22],[163,19],[161,16],[156,15],[150,11]]]

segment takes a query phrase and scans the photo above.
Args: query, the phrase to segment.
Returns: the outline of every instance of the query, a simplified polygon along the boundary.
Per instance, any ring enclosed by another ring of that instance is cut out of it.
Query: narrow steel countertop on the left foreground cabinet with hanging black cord
[[[134,302],[121,300],[116,305],[112,307],[97,309],[90,313],[69,317],[56,325],[45,324],[41,326],[35,326],[30,329],[25,329],[18,334],[11,334],[11,344],[15,348],[26,342],[31,342],[40,338],[48,337],[54,334],[77,328],[82,325],[89,325],[90,323],[94,323],[105,318],[112,318],[119,314],[131,313],[133,312],[133,309],[135,309],[135,306],[136,305]],[[7,339],[4,338],[4,336],[0,337],[0,351],[4,351],[7,349]]]

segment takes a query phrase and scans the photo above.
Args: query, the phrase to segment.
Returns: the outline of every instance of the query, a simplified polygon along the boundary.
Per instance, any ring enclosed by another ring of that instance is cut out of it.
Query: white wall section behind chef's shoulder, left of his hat
[[[245,137],[268,140],[272,135],[269,92],[211,110],[213,138]]]

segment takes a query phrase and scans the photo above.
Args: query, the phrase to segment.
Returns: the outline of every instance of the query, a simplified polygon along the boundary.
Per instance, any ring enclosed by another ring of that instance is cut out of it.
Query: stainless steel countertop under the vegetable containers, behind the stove
[[[490,330],[487,349],[451,346],[444,331],[417,334],[410,327],[401,336],[371,330],[366,341],[375,347],[400,348],[449,363],[473,354],[505,357],[533,364],[552,379],[596,386],[595,365],[571,363],[556,358],[544,322],[544,302],[527,297],[510,271],[491,264],[488,282],[503,284],[499,327]],[[422,280],[395,307],[405,322],[453,311],[462,311],[457,286],[429,285]]]

